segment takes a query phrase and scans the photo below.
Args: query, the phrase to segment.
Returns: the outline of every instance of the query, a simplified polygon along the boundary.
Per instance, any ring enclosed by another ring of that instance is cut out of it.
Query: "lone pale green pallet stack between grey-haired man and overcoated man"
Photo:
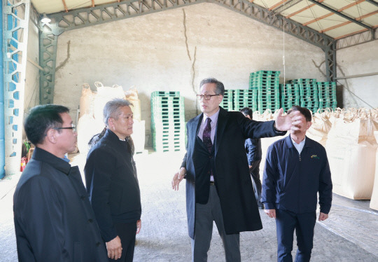
[[[184,98],[180,92],[151,94],[151,133],[153,149],[157,152],[185,149]]]

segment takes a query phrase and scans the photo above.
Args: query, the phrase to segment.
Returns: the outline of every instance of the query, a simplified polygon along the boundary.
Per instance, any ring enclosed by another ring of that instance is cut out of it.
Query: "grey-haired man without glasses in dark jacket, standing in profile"
[[[87,156],[87,192],[106,242],[109,261],[132,261],[135,234],[141,230],[141,193],[133,159],[130,102],[113,99],[104,106],[107,130]]]

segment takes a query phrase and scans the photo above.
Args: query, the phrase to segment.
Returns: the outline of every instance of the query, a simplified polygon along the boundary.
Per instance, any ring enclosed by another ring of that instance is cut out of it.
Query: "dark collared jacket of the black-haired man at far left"
[[[13,211],[18,261],[108,261],[77,166],[36,147]]]

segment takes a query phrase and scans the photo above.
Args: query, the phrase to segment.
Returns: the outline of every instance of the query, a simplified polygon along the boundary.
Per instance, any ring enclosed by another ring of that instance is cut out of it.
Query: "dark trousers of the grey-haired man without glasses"
[[[135,235],[137,233],[137,222],[135,223],[115,223],[118,236],[122,244],[122,256],[114,260],[109,258],[109,262],[132,262],[134,258]]]

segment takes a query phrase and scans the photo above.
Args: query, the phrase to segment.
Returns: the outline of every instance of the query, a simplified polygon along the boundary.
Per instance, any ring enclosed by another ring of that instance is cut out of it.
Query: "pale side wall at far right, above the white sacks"
[[[337,50],[336,57],[337,77],[378,73],[378,40]],[[344,108],[378,107],[378,75],[339,79],[338,82]]]

